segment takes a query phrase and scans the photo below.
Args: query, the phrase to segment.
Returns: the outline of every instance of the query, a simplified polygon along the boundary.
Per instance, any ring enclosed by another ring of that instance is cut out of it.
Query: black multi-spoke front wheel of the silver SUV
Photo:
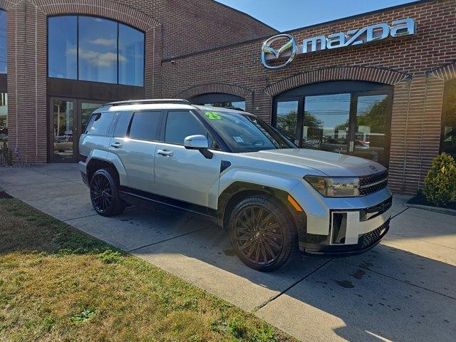
[[[229,237],[234,253],[257,271],[285,266],[297,249],[297,233],[289,210],[278,199],[252,195],[232,210]]]

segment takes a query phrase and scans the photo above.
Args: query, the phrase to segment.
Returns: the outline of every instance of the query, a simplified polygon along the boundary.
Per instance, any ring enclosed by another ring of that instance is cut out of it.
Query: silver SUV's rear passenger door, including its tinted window
[[[110,152],[118,155],[127,172],[123,185],[154,192],[155,150],[162,119],[160,110],[123,112],[118,118]]]

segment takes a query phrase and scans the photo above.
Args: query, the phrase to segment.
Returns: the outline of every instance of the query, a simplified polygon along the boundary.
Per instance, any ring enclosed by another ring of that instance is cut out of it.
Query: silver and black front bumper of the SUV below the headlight
[[[306,182],[292,189],[304,209],[297,224],[299,249],[306,255],[338,257],[374,247],[388,232],[393,197],[385,187],[361,197],[323,197]]]

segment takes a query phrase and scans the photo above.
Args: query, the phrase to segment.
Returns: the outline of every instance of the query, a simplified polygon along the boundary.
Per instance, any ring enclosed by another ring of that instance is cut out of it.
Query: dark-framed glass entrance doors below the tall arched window
[[[49,108],[49,159],[51,162],[76,162],[78,142],[93,110],[103,103],[74,98],[51,98]]]

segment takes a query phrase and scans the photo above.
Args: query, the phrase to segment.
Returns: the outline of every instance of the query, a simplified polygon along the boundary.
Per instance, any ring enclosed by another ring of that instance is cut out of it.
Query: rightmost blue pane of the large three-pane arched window
[[[142,86],[144,33],[119,24],[119,83]]]

